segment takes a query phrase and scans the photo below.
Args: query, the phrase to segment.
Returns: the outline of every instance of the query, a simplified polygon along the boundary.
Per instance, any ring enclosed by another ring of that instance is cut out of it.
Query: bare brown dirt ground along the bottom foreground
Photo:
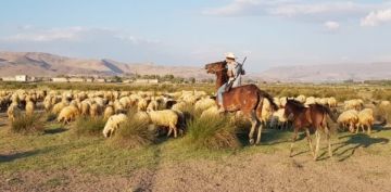
[[[3,128],[7,123],[1,116]],[[365,145],[343,151],[335,143],[336,156],[350,153],[349,158],[329,159],[324,149],[320,161],[314,162],[307,148],[299,148],[293,157],[288,157],[287,149],[219,159],[162,161],[153,168],[140,168],[126,176],[92,175],[72,167],[0,172],[0,191],[391,191],[388,155],[367,153],[364,148],[370,146]],[[14,153],[0,152],[0,164],[28,157]]]

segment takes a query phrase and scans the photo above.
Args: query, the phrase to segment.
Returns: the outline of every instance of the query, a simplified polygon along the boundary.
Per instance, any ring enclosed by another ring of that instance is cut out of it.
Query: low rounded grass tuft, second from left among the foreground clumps
[[[100,136],[104,125],[105,120],[103,117],[79,117],[75,121],[74,131],[77,136]]]

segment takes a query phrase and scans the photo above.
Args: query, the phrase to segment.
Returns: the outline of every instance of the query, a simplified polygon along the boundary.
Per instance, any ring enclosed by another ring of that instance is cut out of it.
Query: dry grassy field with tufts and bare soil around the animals
[[[84,100],[92,98],[91,103],[100,103],[100,99],[97,98],[115,98],[111,94],[101,95],[102,90],[112,91],[114,94],[118,90],[117,99],[129,98],[131,103],[131,94],[142,95],[138,98],[139,102],[151,93],[151,100],[157,101],[159,92],[163,92],[160,95],[165,97],[168,93],[174,95],[175,91],[191,92],[195,89],[200,91],[202,98],[212,93],[214,89],[212,85],[135,87],[0,84],[0,94],[1,90],[16,92],[24,89],[27,95],[33,95],[34,91],[29,92],[29,90],[45,89],[48,90],[48,94],[51,90],[59,90],[55,92],[58,99],[50,101],[67,102],[68,105],[75,106],[78,106],[77,102],[81,102],[84,91],[87,91]],[[41,102],[45,97],[37,97],[35,115],[22,115],[12,124],[4,113],[5,107],[0,103],[2,108],[0,191],[194,191],[195,189],[252,191],[254,188],[262,191],[303,191],[305,190],[303,185],[316,191],[387,191],[391,188],[384,181],[391,179],[391,167],[380,163],[391,157],[389,142],[391,130],[388,127],[391,120],[391,106],[379,104],[391,99],[389,87],[356,85],[260,85],[260,87],[279,98],[295,98],[300,94],[315,98],[333,97],[338,100],[336,115],[344,111],[345,100],[361,99],[364,101],[363,107],[374,108],[374,131],[371,135],[355,135],[335,129],[332,137],[335,159],[329,159],[326,150],[321,149],[319,161],[312,162],[306,140],[303,139],[304,133],[299,137],[295,145],[298,153],[293,158],[288,157],[289,141],[292,137],[290,129],[265,129],[261,145],[250,146],[247,142],[248,120],[234,118],[234,115],[201,118],[203,112],[194,110],[194,103],[191,103],[193,98],[184,97],[185,92],[181,92],[181,95],[174,95],[177,101],[188,102],[180,106],[179,121],[182,120],[180,123],[184,123],[184,127],[178,125],[178,130],[179,127],[182,128],[184,135],[179,135],[177,139],[167,138],[166,128],[136,118],[137,102],[127,106],[125,100],[123,102],[118,100],[117,103],[123,103],[122,105],[127,108],[128,119],[118,126],[113,137],[105,139],[102,136],[106,123],[102,116],[103,111],[104,107],[116,106],[116,99],[113,99],[112,105],[105,102],[98,116],[80,115],[75,121],[64,125],[55,120],[56,114],[51,111],[43,112]],[[66,95],[68,90],[83,91],[74,91],[70,98]],[[147,92],[140,93],[139,90]],[[127,91],[129,94],[126,94]],[[195,92],[193,91],[192,94]],[[4,103],[10,104],[11,100],[10,95],[10,102]],[[331,126],[337,128],[338,125]],[[378,162],[378,165],[383,167],[375,166],[374,162]],[[338,179],[343,174],[341,170],[351,174],[346,181]],[[283,176],[276,175],[276,171],[282,172]],[[50,177],[46,178],[47,175]],[[243,179],[232,180],[232,176]],[[250,176],[260,180],[253,182],[260,185],[244,184],[249,179],[253,179]],[[319,179],[319,176],[325,180]],[[91,177],[94,179],[89,180],[88,178]],[[42,179],[37,181],[35,178]],[[294,180],[295,178],[300,181]],[[312,179],[314,182],[311,181]],[[203,180],[219,182],[219,185],[211,187]],[[237,187],[234,187],[236,182]],[[360,184],[356,188],[349,187],[350,182]],[[97,185],[87,188],[80,183]],[[291,188],[292,183],[298,188]],[[316,183],[330,183],[330,185],[320,184],[323,187],[320,188]]]

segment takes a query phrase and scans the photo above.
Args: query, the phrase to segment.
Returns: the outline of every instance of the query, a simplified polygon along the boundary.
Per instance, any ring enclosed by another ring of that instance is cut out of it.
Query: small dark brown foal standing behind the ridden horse
[[[290,156],[293,153],[293,144],[298,138],[298,131],[300,129],[305,129],[306,138],[308,140],[310,150],[314,156],[314,161],[317,159],[319,152],[319,142],[320,142],[320,131],[326,133],[327,143],[328,143],[328,153],[330,158],[332,157],[331,143],[330,143],[330,129],[327,127],[327,116],[330,116],[332,120],[336,121],[329,107],[320,104],[310,104],[308,107],[305,107],[302,103],[295,100],[287,99],[287,104],[285,106],[285,116],[293,121],[293,139],[290,148]],[[310,128],[315,130],[316,136],[316,149],[314,151],[312,145],[312,140],[310,136]]]

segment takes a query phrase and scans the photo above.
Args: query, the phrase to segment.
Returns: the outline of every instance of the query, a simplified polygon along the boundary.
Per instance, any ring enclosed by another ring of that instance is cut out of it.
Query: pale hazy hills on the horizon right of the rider
[[[391,79],[391,63],[280,66],[269,68],[258,77],[295,82]]]

